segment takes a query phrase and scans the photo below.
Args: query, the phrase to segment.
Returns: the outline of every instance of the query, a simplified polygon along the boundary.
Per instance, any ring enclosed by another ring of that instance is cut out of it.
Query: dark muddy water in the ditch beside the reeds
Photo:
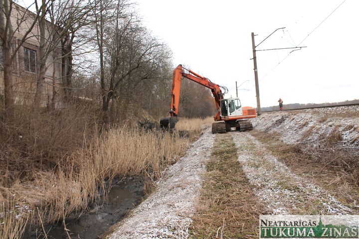
[[[119,181],[119,180],[118,180]],[[88,213],[66,220],[66,229],[71,239],[98,239],[112,225],[124,218],[144,197],[141,178],[128,178],[113,183],[105,200],[97,202]],[[68,239],[62,223],[45,225],[48,239]],[[24,239],[45,238],[43,232],[28,233]]]

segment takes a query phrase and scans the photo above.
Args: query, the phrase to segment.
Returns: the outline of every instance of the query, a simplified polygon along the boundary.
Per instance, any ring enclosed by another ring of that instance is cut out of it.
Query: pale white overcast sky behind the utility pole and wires
[[[284,104],[359,99],[358,0],[332,15],[343,0],[136,1],[144,24],[172,49],[174,65],[228,87],[225,97],[235,97],[235,81],[244,82],[242,105],[256,106],[251,32],[258,44],[280,27],[256,49],[307,48],[257,52],[262,107],[279,97]]]

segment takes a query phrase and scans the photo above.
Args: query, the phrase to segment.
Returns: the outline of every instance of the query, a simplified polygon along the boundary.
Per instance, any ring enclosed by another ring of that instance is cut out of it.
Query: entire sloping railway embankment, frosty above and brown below
[[[359,107],[264,113],[251,134],[291,171],[358,209]]]

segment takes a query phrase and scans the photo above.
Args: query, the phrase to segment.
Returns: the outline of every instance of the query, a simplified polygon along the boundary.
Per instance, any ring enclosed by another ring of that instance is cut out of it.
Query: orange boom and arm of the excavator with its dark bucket
[[[220,100],[223,99],[223,93],[220,89],[220,86],[217,84],[212,83],[207,78],[200,76],[196,73],[194,73],[191,70],[187,70],[188,73],[184,72],[183,70],[186,70],[182,67],[182,65],[179,65],[174,70],[174,76],[173,76],[173,82],[172,82],[172,91],[171,91],[171,110],[170,110],[170,118],[162,118],[160,120],[161,127],[168,127],[174,128],[176,125],[176,122],[178,121],[178,112],[179,112],[179,91],[180,91],[180,83],[182,78],[187,78],[191,81],[194,81],[204,87],[207,87],[211,90],[216,108],[217,113],[214,117],[214,120],[221,120],[220,118]]]

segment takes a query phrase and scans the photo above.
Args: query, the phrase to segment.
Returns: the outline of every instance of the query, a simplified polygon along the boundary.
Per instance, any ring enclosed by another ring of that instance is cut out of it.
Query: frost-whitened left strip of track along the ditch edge
[[[109,238],[187,238],[213,137],[206,129],[186,155],[168,168],[166,176],[158,181],[155,192]]]

